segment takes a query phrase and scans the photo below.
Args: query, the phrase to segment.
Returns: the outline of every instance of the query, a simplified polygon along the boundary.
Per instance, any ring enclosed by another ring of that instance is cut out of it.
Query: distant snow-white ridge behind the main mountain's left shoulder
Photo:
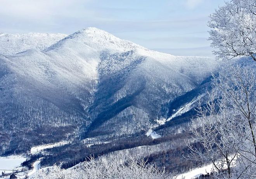
[[[7,34],[0,33],[0,53],[13,54],[35,48],[43,50],[46,47],[56,43],[66,34],[45,34],[45,33],[28,33],[28,34]]]

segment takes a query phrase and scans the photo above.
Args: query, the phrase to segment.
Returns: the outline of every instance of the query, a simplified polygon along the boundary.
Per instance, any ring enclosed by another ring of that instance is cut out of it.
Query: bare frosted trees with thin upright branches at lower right
[[[211,162],[216,178],[256,178],[256,70],[223,68],[213,86],[207,105],[199,103],[199,118],[192,120],[202,149],[188,145],[189,157]]]

